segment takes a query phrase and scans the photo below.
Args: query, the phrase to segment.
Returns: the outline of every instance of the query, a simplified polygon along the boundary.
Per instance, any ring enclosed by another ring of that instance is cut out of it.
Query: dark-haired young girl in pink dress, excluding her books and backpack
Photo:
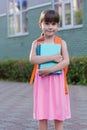
[[[45,10],[39,20],[44,34],[42,43],[55,44],[55,34],[58,31],[59,15],[54,10]],[[39,121],[39,130],[47,130],[47,121],[54,120],[55,130],[63,130],[63,121],[71,117],[69,94],[65,93],[64,68],[69,65],[69,54],[64,40],[61,44],[61,55],[38,56],[37,41],[32,44],[30,62],[41,64],[49,61],[58,62],[55,66],[37,69],[34,81],[34,118]],[[50,49],[50,48],[49,48]],[[49,75],[62,70],[62,74]]]

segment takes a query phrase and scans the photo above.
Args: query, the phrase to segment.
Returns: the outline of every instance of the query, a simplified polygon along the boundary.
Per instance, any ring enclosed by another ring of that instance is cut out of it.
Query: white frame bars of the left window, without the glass
[[[8,37],[16,37],[16,36],[25,36],[25,35],[28,35],[29,34],[29,31],[27,30],[27,32],[23,32],[23,21],[22,21],[22,18],[23,18],[23,13],[24,12],[28,12],[28,8],[26,8],[26,9],[22,9],[22,6],[20,7],[20,11],[19,12],[15,12],[15,9],[13,9],[14,10],[14,12],[12,13],[12,14],[10,14],[9,13],[9,1],[10,0],[7,0],[7,28],[8,28]],[[13,2],[15,3],[15,0],[13,0]],[[22,2],[21,0],[20,0],[20,2]],[[22,3],[21,3],[22,4]],[[16,20],[16,16],[18,16],[19,15],[19,17],[20,17],[20,31],[19,32],[17,32],[16,31],[16,27],[14,26],[14,34],[11,34],[10,33],[10,22],[9,22],[9,18],[10,18],[10,16],[13,16],[13,18],[14,18],[14,22],[16,23],[16,25],[17,25],[17,20]],[[28,26],[28,25],[27,25]]]

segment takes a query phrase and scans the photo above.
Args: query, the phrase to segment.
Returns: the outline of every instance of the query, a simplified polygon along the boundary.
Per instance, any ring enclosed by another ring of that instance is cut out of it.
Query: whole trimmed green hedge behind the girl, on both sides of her
[[[0,79],[29,82],[33,65],[28,60],[0,61]],[[69,84],[87,85],[87,57],[72,57],[67,74]]]

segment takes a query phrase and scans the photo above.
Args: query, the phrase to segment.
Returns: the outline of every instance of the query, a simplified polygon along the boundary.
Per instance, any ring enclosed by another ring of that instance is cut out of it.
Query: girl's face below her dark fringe
[[[45,36],[54,36],[58,30],[58,23],[55,22],[42,22],[41,28]]]

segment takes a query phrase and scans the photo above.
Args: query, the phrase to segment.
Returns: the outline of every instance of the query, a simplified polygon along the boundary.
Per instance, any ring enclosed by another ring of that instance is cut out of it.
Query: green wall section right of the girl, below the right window
[[[59,32],[68,44],[70,56],[87,55],[87,30],[84,27]]]

